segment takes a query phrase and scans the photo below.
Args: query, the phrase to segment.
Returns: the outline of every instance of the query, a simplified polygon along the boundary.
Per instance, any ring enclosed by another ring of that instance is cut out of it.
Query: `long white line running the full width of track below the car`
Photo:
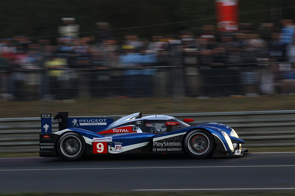
[[[180,169],[180,168],[222,168],[222,167],[295,167],[295,165],[248,165],[248,166],[192,166],[192,167],[109,167],[109,168],[51,168],[51,169],[14,169],[0,171],[44,171],[44,170],[114,170],[114,169]]]

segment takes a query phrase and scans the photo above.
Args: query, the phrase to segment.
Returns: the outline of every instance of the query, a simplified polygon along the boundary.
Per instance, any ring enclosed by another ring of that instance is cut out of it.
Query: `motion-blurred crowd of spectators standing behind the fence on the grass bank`
[[[55,43],[26,36],[0,40],[0,99],[137,96],[258,96],[295,93],[295,26],[240,24],[194,35],[114,37],[108,23],[80,34],[63,18]]]

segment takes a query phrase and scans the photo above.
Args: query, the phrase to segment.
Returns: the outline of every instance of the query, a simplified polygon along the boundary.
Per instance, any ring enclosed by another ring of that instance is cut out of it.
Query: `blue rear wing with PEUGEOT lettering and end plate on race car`
[[[96,117],[74,117],[69,118],[68,112],[59,112],[53,118],[51,114],[41,114],[41,133],[52,133],[52,124],[58,123],[58,130],[64,130],[67,128],[81,128],[92,132],[98,132],[107,128],[114,122],[112,118],[96,118]]]

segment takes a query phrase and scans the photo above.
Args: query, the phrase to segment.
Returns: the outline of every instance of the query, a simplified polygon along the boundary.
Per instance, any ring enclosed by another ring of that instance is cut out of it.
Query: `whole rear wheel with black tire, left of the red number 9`
[[[81,159],[86,154],[86,144],[80,134],[68,132],[60,136],[56,150],[61,158],[75,161]]]

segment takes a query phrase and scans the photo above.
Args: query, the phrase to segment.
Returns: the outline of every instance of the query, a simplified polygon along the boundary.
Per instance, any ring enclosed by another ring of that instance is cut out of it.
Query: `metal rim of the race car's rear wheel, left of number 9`
[[[60,142],[61,152],[67,157],[77,156],[81,152],[82,144],[79,138],[68,135]]]

